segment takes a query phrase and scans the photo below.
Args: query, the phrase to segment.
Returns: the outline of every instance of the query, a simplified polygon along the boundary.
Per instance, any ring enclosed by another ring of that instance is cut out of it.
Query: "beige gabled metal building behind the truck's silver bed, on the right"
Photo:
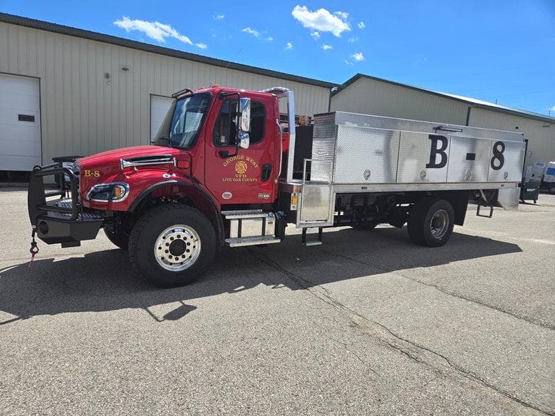
[[[353,76],[332,94],[331,110],[518,131],[528,139],[525,164],[555,160],[555,119],[443,92]]]

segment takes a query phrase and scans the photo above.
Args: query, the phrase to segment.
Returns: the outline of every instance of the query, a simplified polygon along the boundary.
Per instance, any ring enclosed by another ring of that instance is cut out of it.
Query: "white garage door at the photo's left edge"
[[[40,164],[39,80],[0,73],[0,171]]]

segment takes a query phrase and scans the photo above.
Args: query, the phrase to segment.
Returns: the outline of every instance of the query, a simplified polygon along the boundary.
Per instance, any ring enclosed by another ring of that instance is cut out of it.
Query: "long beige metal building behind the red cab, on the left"
[[[334,84],[0,13],[0,171],[148,144],[168,97],[212,83],[287,87],[298,114]]]

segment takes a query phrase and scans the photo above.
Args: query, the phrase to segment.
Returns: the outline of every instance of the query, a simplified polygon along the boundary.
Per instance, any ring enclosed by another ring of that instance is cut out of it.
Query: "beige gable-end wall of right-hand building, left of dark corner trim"
[[[468,105],[406,87],[359,78],[332,96],[332,111],[465,124]]]

